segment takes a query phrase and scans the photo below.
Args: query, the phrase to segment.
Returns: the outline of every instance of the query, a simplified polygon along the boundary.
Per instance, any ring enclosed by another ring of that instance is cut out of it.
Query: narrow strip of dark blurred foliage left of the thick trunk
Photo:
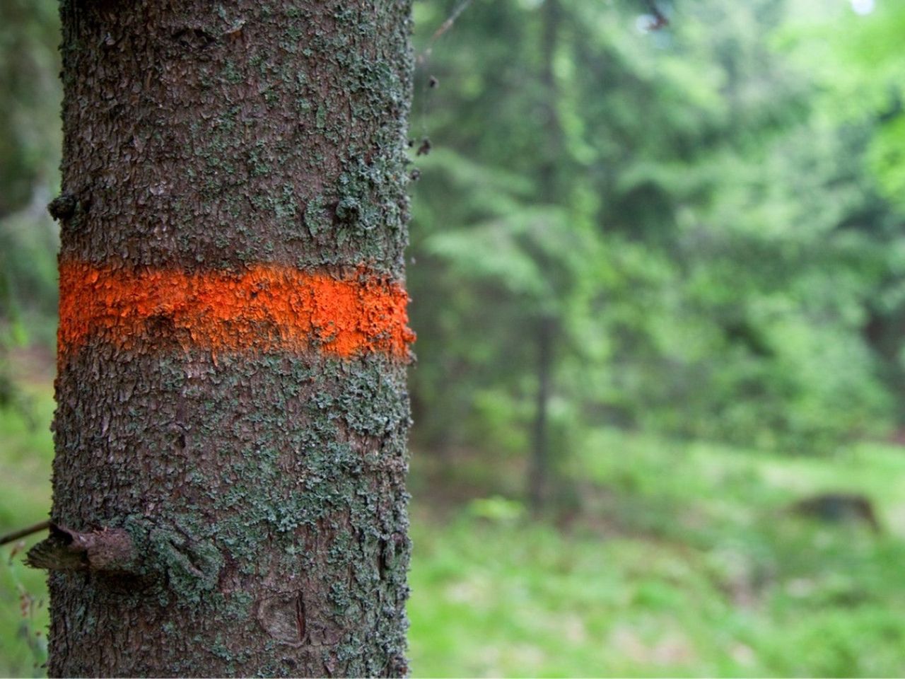
[[[0,408],[14,403],[9,347],[52,342],[61,85],[53,0],[0,5]]]

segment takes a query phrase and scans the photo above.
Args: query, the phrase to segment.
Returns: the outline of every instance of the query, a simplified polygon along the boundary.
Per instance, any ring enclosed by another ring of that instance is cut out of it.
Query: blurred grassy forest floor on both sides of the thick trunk
[[[28,416],[0,410],[0,533],[50,502],[51,387],[22,393]],[[414,453],[414,676],[905,675],[905,449],[800,457],[601,430],[566,466],[561,509],[529,518],[516,461]],[[826,491],[869,498],[881,532],[789,509]],[[12,551],[0,675],[40,676],[43,574]]]

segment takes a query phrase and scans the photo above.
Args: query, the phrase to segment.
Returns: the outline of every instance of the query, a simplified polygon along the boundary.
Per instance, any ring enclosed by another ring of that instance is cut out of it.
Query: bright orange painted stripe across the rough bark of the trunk
[[[129,271],[60,264],[60,356],[89,338],[123,348],[177,339],[185,349],[319,350],[407,359],[414,332],[401,285],[360,269],[335,277],[273,264],[244,273]],[[166,339],[164,337],[163,339]]]

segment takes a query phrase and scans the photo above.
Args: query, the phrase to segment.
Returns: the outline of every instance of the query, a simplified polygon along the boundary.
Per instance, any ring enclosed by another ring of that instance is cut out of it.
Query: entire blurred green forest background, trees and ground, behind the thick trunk
[[[56,11],[0,3],[0,532],[49,508]],[[414,11],[413,674],[905,674],[905,4]]]

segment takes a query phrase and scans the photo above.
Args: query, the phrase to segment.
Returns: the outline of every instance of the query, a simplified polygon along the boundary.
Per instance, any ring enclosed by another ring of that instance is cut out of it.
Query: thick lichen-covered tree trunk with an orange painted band
[[[52,675],[399,675],[408,0],[63,0]]]

